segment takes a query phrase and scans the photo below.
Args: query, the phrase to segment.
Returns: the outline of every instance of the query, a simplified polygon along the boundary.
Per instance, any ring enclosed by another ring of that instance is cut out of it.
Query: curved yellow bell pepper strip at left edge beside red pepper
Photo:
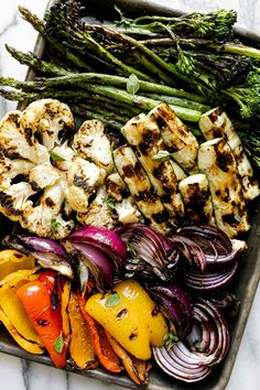
[[[17,290],[39,278],[40,267],[18,270],[0,282],[0,319],[15,342],[31,354],[43,354],[43,343],[35,332],[28,314],[17,296]]]

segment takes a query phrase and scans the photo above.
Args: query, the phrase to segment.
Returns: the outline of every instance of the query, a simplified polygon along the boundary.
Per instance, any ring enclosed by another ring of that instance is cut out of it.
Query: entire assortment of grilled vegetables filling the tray
[[[79,2],[41,21],[36,71],[0,77],[0,321],[56,368],[158,365],[206,378],[225,358],[259,196],[260,51],[234,11],[89,24]],[[53,55],[55,53],[55,55]],[[10,89],[11,87],[11,89]]]

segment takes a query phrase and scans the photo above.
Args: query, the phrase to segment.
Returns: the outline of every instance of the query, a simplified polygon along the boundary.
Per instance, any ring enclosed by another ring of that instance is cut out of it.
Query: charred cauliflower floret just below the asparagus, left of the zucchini
[[[83,159],[110,173],[113,169],[111,145],[104,130],[105,124],[100,120],[86,120],[74,136],[72,148]]]

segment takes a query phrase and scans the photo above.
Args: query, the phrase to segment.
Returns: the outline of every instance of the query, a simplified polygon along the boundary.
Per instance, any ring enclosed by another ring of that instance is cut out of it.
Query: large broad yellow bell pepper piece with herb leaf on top
[[[91,295],[85,308],[138,359],[150,359],[151,346],[164,344],[166,322],[155,302],[134,280],[115,284],[112,293]]]

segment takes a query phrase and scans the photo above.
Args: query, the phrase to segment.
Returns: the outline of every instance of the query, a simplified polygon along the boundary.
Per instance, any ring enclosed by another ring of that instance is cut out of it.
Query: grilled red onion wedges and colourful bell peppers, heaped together
[[[148,384],[153,358],[175,379],[196,382],[228,351],[226,318],[239,301],[227,291],[246,242],[218,228],[166,237],[140,224],[88,226],[59,241],[6,236],[2,246],[0,321],[56,368],[101,365]]]

